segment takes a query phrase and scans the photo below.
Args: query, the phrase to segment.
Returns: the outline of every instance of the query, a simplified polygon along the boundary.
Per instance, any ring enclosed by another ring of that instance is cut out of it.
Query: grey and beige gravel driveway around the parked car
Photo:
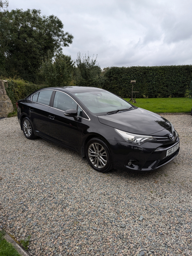
[[[166,115],[180,154],[155,172],[99,173],[0,121],[0,227],[31,255],[192,255],[192,116]]]

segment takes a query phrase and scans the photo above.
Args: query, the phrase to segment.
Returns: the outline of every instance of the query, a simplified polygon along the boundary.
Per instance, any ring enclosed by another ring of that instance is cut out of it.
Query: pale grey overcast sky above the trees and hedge
[[[101,68],[192,64],[191,0],[9,0],[12,9],[59,17],[74,60],[89,51]]]

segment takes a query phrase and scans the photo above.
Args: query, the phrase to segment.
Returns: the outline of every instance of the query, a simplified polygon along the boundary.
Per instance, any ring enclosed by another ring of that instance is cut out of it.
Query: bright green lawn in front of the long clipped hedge
[[[124,99],[129,101],[130,99]],[[137,99],[134,106],[155,113],[187,113],[191,112],[192,99],[189,98],[150,98]],[[132,103],[132,102],[131,102]]]

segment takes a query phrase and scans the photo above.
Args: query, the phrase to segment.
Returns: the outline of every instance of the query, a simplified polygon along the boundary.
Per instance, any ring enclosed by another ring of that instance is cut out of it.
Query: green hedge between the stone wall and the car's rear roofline
[[[8,88],[5,88],[7,95],[9,96],[13,107],[16,107],[16,102],[20,99],[24,99],[30,93],[34,91],[44,88],[47,86],[37,85],[33,83],[29,83],[24,80],[7,80]]]

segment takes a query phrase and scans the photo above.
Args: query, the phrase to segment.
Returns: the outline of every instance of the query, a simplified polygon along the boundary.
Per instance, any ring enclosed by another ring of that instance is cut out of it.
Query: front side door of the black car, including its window
[[[56,91],[53,107],[48,110],[50,139],[69,148],[80,150],[82,117],[68,117],[64,112],[79,106],[68,94]],[[82,109],[78,109],[80,113]]]

